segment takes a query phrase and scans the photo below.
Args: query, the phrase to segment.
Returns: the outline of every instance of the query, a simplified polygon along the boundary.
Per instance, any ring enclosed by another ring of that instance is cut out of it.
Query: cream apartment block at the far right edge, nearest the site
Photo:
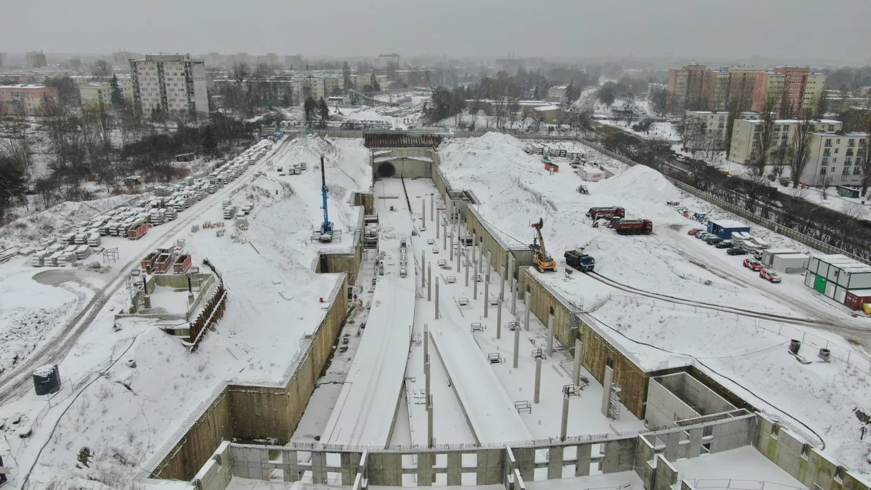
[[[860,185],[867,152],[867,132],[815,132],[800,181],[807,185]]]

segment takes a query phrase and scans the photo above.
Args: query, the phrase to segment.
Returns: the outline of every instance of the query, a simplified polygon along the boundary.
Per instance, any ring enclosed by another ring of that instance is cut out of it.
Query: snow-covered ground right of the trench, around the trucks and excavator
[[[842,305],[820,297],[787,276],[771,285],[741,265],[743,257],[700,243],[686,235],[699,224],[665,205],[679,200],[711,218],[734,218],[704,202],[682,196],[656,171],[638,165],[617,177],[584,183],[568,165],[557,174],[544,171],[540,156],[522,151],[524,143],[489,133],[482,138],[442,144],[442,171],[452,185],[473,191],[479,214],[509,244],[528,244],[530,224],[544,218],[544,237],[560,272],[537,274],[565,298],[579,305],[604,301],[590,316],[604,334],[618,341],[648,368],[696,364],[725,386],[803,433],[805,426],[826,443],[826,453],[848,467],[868,472],[868,449],[859,440],[861,422],[855,408],[866,410],[868,386],[868,319],[856,319]],[[555,159],[555,163],[559,163]],[[611,162],[614,168],[624,164]],[[587,185],[590,195],[575,188]],[[594,228],[584,213],[591,206],[621,205],[627,218],[648,218],[653,234],[619,236]],[[511,210],[506,213],[505,210]],[[807,247],[771,232],[754,234],[773,247],[800,252]],[[710,307],[675,305],[625,292],[594,277],[576,273],[566,279],[563,252],[585,247],[597,259],[604,278],[644,292],[656,292],[707,305],[739,307],[819,322],[819,328],[780,319],[751,318]],[[710,284],[707,283],[710,281]],[[815,347],[840,352],[831,364],[800,365],[787,353],[790,339],[806,340],[803,354],[816,359]],[[859,342],[861,346],[855,346]],[[715,348],[712,348],[715,346]],[[856,366],[856,367],[854,367]],[[814,435],[809,441],[820,445]]]

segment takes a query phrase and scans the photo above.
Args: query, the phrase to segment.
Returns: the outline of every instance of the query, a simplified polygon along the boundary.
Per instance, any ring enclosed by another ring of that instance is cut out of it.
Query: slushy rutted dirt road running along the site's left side
[[[253,165],[250,169],[245,171],[240,178],[234,180],[232,185],[226,186],[225,189],[215,192],[198,203],[197,205],[199,205],[199,208],[195,212],[191,212],[189,213],[189,216],[179,218],[173,222],[172,227],[169,227],[161,233],[155,243],[159,245],[163,241],[172,238],[172,236],[189,227],[192,223],[200,221],[202,219],[200,211],[205,210],[209,205],[213,205],[215,202],[219,203],[221,199],[232,196],[234,193],[239,191],[249,182],[251,176],[264,166],[268,160],[280,158],[280,156],[287,151],[287,143],[289,141],[290,139],[283,140],[280,147],[273,152],[272,156],[263,158],[259,164]],[[73,316],[66,325],[64,325],[61,332],[58,332],[53,339],[37,349],[37,351],[30,356],[30,359],[25,361],[24,364],[17,366],[12,372],[0,378],[0,404],[3,404],[20,394],[26,393],[28,386],[30,386],[30,373],[32,373],[34,368],[44,364],[59,363],[66,357],[72,346],[74,346],[79,337],[82,336],[82,333],[91,326],[91,323],[97,318],[99,312],[103,311],[103,308],[109,299],[118,292],[118,289],[120,289],[121,286],[125,285],[127,273],[138,264],[138,262],[138,257],[133,258],[123,267],[118,269],[118,272],[115,274],[115,277],[109,281],[109,284],[105,285],[103,289],[97,292],[94,297],[91,298],[91,301],[84,306],[82,311],[76,313],[76,315]]]

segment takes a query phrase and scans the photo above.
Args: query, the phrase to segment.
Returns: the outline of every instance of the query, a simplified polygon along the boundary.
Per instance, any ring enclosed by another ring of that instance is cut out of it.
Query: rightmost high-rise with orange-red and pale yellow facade
[[[760,73],[753,89],[753,111],[761,111],[766,101],[774,101],[776,111],[781,104],[789,104],[789,111],[799,115],[814,111],[826,86],[826,75],[811,73],[807,67],[779,66]]]

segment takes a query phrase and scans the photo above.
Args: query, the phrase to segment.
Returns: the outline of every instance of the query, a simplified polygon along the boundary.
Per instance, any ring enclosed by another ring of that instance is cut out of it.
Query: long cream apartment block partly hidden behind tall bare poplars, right
[[[751,164],[758,151],[757,141],[760,139],[761,119],[736,119],[732,131],[732,145],[729,147],[729,159],[738,164]],[[777,119],[774,121],[773,142],[769,151],[776,154],[781,147],[793,143],[798,132],[799,119]],[[815,119],[815,132],[841,131],[843,123],[833,119]]]

